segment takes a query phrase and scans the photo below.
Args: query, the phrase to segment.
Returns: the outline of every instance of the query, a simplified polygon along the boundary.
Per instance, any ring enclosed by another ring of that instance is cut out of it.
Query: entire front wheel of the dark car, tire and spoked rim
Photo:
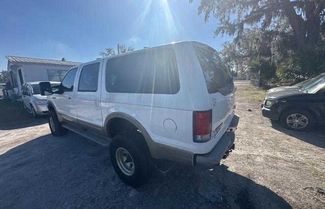
[[[314,116],[303,109],[287,110],[281,115],[282,126],[295,131],[308,131],[314,125]]]

